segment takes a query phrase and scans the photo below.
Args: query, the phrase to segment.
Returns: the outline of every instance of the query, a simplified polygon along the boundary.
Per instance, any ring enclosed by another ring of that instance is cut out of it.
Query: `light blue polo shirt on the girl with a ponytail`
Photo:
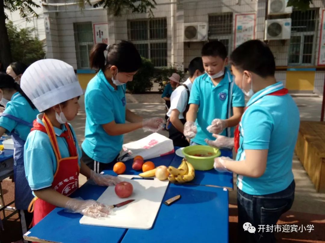
[[[125,123],[125,85],[115,90],[100,70],[87,85],[85,93],[86,127],[82,149],[92,159],[110,163],[120,153],[123,135],[110,136],[103,124]]]

